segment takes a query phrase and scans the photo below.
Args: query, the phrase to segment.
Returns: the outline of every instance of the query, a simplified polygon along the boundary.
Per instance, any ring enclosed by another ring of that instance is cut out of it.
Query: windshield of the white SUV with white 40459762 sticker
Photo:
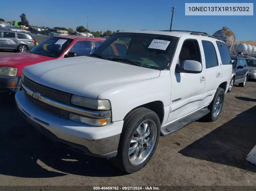
[[[159,34],[115,33],[93,54],[116,62],[163,70],[168,68],[177,39]]]

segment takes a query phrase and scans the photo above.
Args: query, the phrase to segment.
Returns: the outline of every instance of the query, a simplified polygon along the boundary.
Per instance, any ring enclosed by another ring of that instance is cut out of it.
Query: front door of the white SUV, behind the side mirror
[[[185,60],[196,60],[202,63],[202,52],[196,39],[181,36],[177,45],[173,63],[170,68],[171,100],[167,123],[171,123],[200,109],[203,103],[205,71],[199,74],[176,73],[175,68]],[[167,87],[168,88],[168,87]]]

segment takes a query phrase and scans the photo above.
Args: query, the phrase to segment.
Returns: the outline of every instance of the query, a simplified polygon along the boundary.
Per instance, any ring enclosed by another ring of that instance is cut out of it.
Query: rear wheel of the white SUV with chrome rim
[[[219,103],[217,104],[218,97],[219,97]],[[220,116],[223,102],[224,102],[224,97],[225,97],[224,89],[218,88],[214,95],[213,100],[211,101],[210,105],[208,106],[208,110],[210,110],[210,113],[205,116],[209,122],[216,121],[218,119],[218,117]],[[215,109],[215,107],[217,106],[216,104],[218,105],[217,109]]]

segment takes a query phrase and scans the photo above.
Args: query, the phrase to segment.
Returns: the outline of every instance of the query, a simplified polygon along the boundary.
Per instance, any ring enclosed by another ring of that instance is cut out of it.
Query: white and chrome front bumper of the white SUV
[[[86,155],[111,158],[117,154],[123,121],[94,127],[51,115],[33,105],[23,91],[15,94],[19,112],[52,141]]]

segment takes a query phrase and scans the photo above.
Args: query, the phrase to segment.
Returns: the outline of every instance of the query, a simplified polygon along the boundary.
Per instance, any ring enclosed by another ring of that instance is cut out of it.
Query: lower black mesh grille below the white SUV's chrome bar
[[[49,105],[47,103],[44,103],[42,101],[37,100],[36,98],[28,95],[25,91],[25,96],[28,98],[28,100],[30,100],[32,103],[34,103],[35,105],[37,105],[38,107],[41,107],[49,112],[61,115],[61,116],[65,116],[66,114],[66,110],[60,109],[58,107],[54,107],[52,105]]]

